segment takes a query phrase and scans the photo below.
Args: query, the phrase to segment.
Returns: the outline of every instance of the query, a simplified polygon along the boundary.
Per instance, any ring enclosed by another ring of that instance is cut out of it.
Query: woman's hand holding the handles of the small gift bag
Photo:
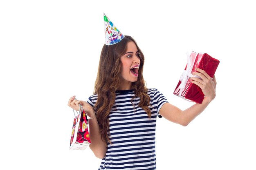
[[[70,106],[74,110],[79,111],[79,104],[81,104],[83,106],[83,110],[89,117],[91,118],[96,117],[95,112],[90,104],[82,100],[77,100],[75,99],[75,97],[76,96],[70,97],[70,99],[68,100],[67,106]]]

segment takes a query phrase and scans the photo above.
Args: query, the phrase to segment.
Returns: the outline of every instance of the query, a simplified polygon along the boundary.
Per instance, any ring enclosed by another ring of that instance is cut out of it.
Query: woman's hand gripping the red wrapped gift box
[[[213,79],[211,80],[209,74],[207,74],[204,70],[200,68],[195,68],[195,70],[198,72],[193,72],[191,74],[198,75],[202,78],[202,80],[196,77],[190,77],[191,82],[198,85],[202,89],[205,97],[208,97],[210,101],[212,101],[216,96],[215,89],[217,82],[215,75],[213,75]]]

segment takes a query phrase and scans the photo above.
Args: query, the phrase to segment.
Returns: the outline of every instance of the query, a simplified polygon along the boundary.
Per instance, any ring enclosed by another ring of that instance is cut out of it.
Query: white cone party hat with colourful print
[[[104,13],[104,24],[105,24],[105,39],[106,45],[117,44],[123,40],[124,35],[117,29],[117,27],[110,21],[110,19]]]

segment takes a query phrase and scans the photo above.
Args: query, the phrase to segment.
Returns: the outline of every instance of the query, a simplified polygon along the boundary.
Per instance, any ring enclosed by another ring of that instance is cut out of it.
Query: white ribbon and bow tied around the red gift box
[[[198,56],[199,53],[196,53],[194,59],[192,59],[192,57],[190,57],[190,54],[188,52],[186,52],[186,55],[187,55],[187,66],[186,66],[186,70],[183,71],[182,75],[180,76],[180,81],[181,81],[181,84],[179,86],[180,88],[180,97],[181,97],[181,94],[182,92],[184,91],[184,88],[186,86],[186,83],[188,82],[189,80],[189,77],[197,77],[197,78],[200,78],[198,75],[192,75],[191,72],[192,72],[192,69],[193,69],[193,66],[195,64],[195,59],[196,57]]]

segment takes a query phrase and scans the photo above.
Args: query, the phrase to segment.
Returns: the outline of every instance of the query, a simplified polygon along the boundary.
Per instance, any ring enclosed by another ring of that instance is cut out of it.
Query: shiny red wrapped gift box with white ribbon
[[[188,63],[186,64],[182,76],[180,76],[180,81],[178,82],[173,94],[188,101],[202,104],[204,93],[198,85],[191,83],[189,77],[200,78],[197,75],[191,74],[192,72],[198,72],[195,70],[195,67],[197,67],[206,71],[206,73],[213,78],[220,61],[211,57],[207,53],[196,52],[192,52],[191,55],[188,55],[187,61]]]

